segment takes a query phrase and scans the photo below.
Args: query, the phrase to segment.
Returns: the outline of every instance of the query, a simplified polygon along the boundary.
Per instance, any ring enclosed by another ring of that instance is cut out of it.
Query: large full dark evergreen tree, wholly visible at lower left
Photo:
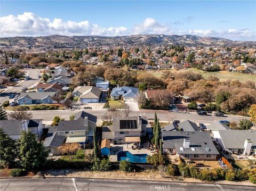
[[[18,157],[20,164],[25,169],[41,167],[46,162],[48,153],[44,151],[44,145],[37,142],[36,135],[30,131],[22,131],[18,140]]]

